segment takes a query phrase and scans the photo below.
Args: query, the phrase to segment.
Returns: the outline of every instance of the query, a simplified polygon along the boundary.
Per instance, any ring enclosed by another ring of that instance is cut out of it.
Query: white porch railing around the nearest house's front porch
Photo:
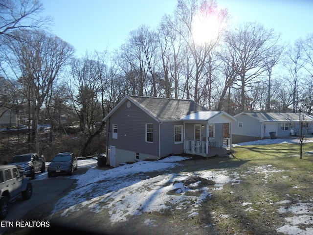
[[[209,137],[208,144],[208,152],[210,151],[210,147],[225,148],[227,150],[230,150],[229,138]],[[206,152],[206,141],[184,140],[184,148],[184,152],[188,154],[196,154],[203,157],[206,157],[206,155],[208,154],[208,152]]]

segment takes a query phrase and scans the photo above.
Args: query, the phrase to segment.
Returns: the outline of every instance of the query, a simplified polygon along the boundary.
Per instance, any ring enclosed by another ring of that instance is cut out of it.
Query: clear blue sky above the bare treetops
[[[76,55],[112,51],[145,24],[155,28],[173,14],[177,0],[42,0],[43,14],[54,19],[51,32],[73,45]],[[313,33],[312,0],[217,0],[235,23],[258,22],[290,43]]]

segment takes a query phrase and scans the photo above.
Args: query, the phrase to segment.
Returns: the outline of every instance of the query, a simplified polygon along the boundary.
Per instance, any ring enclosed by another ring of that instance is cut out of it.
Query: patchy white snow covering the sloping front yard
[[[288,141],[296,140],[253,141],[237,144],[234,147],[252,144],[286,143]],[[181,161],[186,160],[186,158],[171,156],[155,162],[141,161],[107,170],[99,169],[95,159],[79,160],[78,167],[87,167],[89,169],[85,174],[65,176],[77,179],[76,188],[55,205],[51,217],[54,213],[62,211],[61,216],[66,218],[82,208],[89,208],[94,213],[103,210],[109,211],[109,219],[112,224],[127,221],[130,215],[136,216],[143,212],[169,208],[175,208],[175,210],[187,209],[188,214],[186,216],[197,216],[201,203],[214,194],[215,190],[222,189],[226,183],[240,184],[242,176],[255,172],[262,175],[266,185],[270,175],[282,172],[271,165],[262,165],[240,174],[227,169],[171,173],[172,169],[179,166]],[[156,171],[160,171],[162,174],[155,177],[147,177],[147,174],[145,174]],[[167,173],[164,174],[164,172]],[[45,178],[47,178],[46,173],[41,173],[35,180]],[[208,185],[208,182],[203,184],[203,181],[206,180],[209,180],[212,184]],[[277,213],[290,214],[289,217],[285,218],[285,225],[277,228],[277,232],[287,235],[313,234],[313,197],[311,203],[302,203],[301,201],[291,203],[291,196],[286,195],[286,200],[272,203],[280,206]],[[247,211],[251,209],[250,205],[251,202],[242,203]],[[224,216],[227,217],[228,215]],[[155,221],[150,219],[145,221],[147,226],[156,226],[154,223]],[[307,226],[306,229],[301,226],[303,224]],[[207,224],[207,226],[212,226],[212,224]]]

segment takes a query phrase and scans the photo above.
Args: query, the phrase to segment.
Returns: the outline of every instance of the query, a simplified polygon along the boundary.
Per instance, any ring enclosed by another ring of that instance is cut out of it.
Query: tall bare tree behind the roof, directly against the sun
[[[199,102],[201,98],[201,80],[205,79],[205,66],[207,57],[216,47],[225,24],[228,20],[226,9],[218,9],[215,0],[179,0],[175,12],[177,21],[180,22],[177,32],[182,36],[192,58],[193,71],[188,71],[188,76],[193,78],[193,99]],[[197,25],[198,24],[198,25]],[[200,24],[200,25],[199,25]],[[212,27],[214,24],[214,30]],[[197,28],[197,30],[195,30]],[[199,29],[199,30],[198,30]],[[205,32],[198,35],[198,32]],[[201,40],[198,40],[200,37]],[[191,72],[191,73],[190,73]]]

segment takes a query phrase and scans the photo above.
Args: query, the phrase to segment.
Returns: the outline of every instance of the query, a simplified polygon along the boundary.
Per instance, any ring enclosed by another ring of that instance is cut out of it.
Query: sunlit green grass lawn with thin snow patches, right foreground
[[[276,229],[286,224],[289,213],[279,213],[280,207],[313,203],[313,143],[246,145],[233,148],[234,158],[228,169],[238,173],[239,184],[225,185],[214,191],[207,202],[216,227],[226,234],[280,234]],[[243,162],[243,164],[239,164]],[[233,167],[232,167],[233,166]],[[279,204],[282,201],[287,204]],[[311,211],[312,215],[312,211]],[[301,229],[312,228],[303,224]]]

